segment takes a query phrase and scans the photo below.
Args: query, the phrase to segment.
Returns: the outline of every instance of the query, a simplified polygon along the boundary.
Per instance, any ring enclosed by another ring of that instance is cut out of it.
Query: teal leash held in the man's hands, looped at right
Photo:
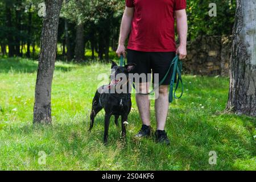
[[[123,65],[125,65],[125,59],[123,57],[123,55],[121,55],[120,57],[120,67],[122,67]],[[169,103],[172,103],[172,101],[174,100],[174,98],[181,98],[184,92],[184,86],[183,86],[183,81],[181,78],[181,71],[182,71],[182,62],[179,60],[179,56],[175,56],[174,59],[171,61],[170,67],[168,68],[168,71],[166,73],[166,75],[163,77],[163,79],[159,82],[158,86],[156,86],[153,90],[151,90],[151,92],[149,93],[139,93],[142,95],[149,95],[155,92],[156,89],[159,88],[160,85],[163,84],[164,80],[166,80],[168,74],[171,71],[172,65],[174,65],[173,67],[173,71],[172,71],[172,77],[171,77],[171,81],[170,81],[170,92],[169,92]],[[174,80],[175,80],[175,76],[177,75],[177,82],[176,82],[176,87],[174,90]],[[181,94],[179,97],[176,96],[176,91],[179,88],[179,83],[181,83]],[[135,85],[133,83],[133,88],[135,89]],[[136,90],[136,89],[135,89]]]

